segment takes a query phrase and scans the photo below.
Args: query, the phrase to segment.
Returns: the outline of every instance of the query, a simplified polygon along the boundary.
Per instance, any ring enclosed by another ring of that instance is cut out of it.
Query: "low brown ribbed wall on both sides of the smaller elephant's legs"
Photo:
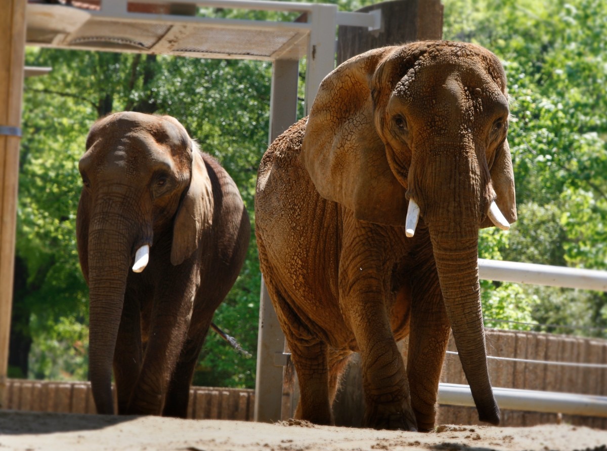
[[[7,409],[96,413],[89,382],[9,379]],[[188,418],[253,421],[254,390],[192,387]]]

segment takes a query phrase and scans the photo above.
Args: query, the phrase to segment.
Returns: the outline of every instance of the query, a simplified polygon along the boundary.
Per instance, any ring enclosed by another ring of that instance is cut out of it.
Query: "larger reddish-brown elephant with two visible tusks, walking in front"
[[[478,231],[517,220],[506,75],[489,50],[370,50],[320,84],[263,155],[260,268],[299,380],[296,416],[332,424],[351,353],[364,425],[432,430],[452,330],[481,421],[487,372]],[[409,336],[407,362],[397,342]]]

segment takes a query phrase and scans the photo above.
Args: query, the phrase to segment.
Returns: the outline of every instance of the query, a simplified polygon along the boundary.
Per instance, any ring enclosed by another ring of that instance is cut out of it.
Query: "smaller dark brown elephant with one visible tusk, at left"
[[[251,235],[239,190],[177,119],[95,122],[78,167],[89,379],[98,413],[186,418],[194,367]]]

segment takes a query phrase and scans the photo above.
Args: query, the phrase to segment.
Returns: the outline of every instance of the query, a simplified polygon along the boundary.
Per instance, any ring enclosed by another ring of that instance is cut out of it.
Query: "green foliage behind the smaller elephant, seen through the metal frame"
[[[27,262],[27,283],[15,311],[27,314],[13,327],[33,337],[31,377],[83,379],[88,306],[75,212],[77,164],[90,125],[122,109],[177,117],[234,178],[253,221],[257,164],[268,140],[271,65],[50,49],[29,50],[27,60],[53,71],[25,87],[17,253]],[[259,292],[251,233],[243,270],[214,318],[251,354]],[[254,385],[255,359],[235,353],[212,331],[199,368],[197,379],[209,385]]]

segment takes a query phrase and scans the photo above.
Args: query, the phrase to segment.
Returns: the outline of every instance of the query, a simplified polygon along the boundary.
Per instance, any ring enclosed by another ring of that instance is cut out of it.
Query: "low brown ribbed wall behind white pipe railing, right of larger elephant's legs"
[[[456,351],[453,338],[449,351]],[[607,340],[566,337],[537,332],[487,331],[487,354],[497,357],[546,360],[555,362],[607,363]],[[532,362],[509,362],[489,359],[493,387],[560,391],[607,396],[607,369],[568,367]],[[447,354],[441,382],[467,384],[458,356]],[[476,409],[441,405],[440,424],[480,424]],[[532,426],[566,422],[607,429],[606,418],[557,415],[555,413],[502,410],[501,424]]]

